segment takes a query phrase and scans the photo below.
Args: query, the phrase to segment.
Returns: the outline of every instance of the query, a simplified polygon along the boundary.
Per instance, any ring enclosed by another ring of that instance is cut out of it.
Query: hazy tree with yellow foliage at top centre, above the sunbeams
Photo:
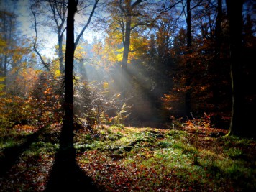
[[[147,26],[155,20],[150,17],[150,4],[146,4],[147,0],[114,0],[109,1],[110,17],[109,25],[111,32],[118,33],[122,40],[122,96],[127,96],[127,83],[129,76],[127,75],[127,64],[129,62],[129,52],[131,45],[131,35],[138,32],[138,27]],[[156,4],[155,4],[156,6]],[[151,7],[154,5],[151,4]]]

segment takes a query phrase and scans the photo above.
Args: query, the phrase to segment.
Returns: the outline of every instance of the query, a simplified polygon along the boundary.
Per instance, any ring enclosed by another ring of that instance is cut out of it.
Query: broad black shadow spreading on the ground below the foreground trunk
[[[86,176],[86,173],[77,165],[76,150],[73,142],[69,142],[69,145],[67,145],[67,142],[62,140],[63,137],[60,136],[60,148],[56,152],[55,162],[45,192],[101,191],[93,183],[93,180]]]

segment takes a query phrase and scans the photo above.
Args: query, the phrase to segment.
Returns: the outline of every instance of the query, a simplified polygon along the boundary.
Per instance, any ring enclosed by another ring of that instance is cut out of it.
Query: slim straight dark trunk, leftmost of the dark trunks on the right
[[[187,0],[187,47],[188,55],[191,54],[192,45],[192,30],[191,30],[191,0]],[[186,94],[185,94],[185,111],[186,116],[191,118],[191,73],[189,69],[191,68],[191,60],[187,59],[186,67],[188,69],[188,74],[185,82]]]

